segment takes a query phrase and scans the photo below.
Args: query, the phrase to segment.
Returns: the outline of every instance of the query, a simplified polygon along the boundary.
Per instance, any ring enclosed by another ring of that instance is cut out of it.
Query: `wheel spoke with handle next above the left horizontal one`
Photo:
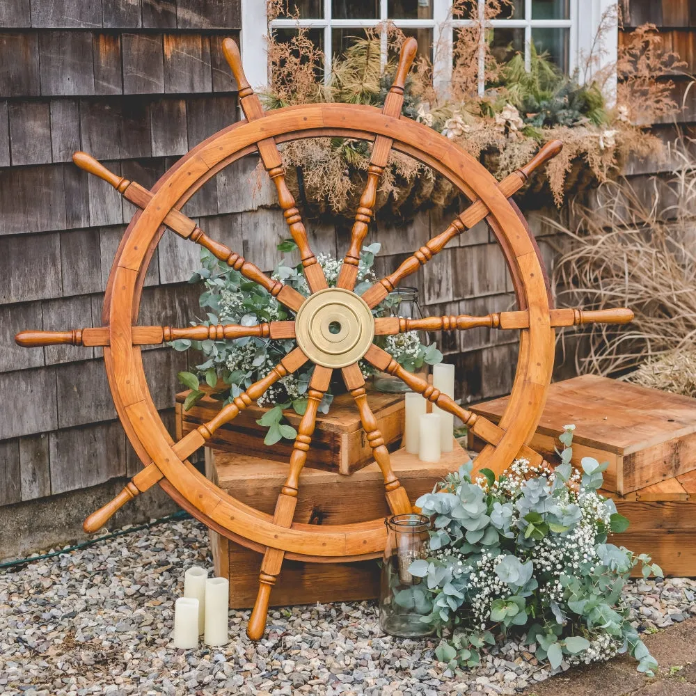
[[[122,193],[122,196],[136,207],[144,209],[148,203],[150,203],[150,200],[152,200],[153,194],[151,191],[141,187],[137,182],[129,181],[124,177],[118,176],[118,174],[114,174],[103,164],[94,159],[94,157],[87,155],[86,152],[76,152],[72,160],[79,168],[111,184],[114,189]],[[196,242],[196,244],[200,244],[200,246],[207,248],[215,258],[225,262],[228,266],[235,269],[235,271],[239,271],[244,278],[253,280],[254,283],[258,283],[262,287],[265,287],[271,295],[286,307],[292,309],[294,312],[299,310],[300,305],[304,301],[304,297],[297,292],[294,287],[283,285],[283,283],[280,283],[280,280],[270,278],[264,274],[261,269],[247,261],[243,256],[232,251],[225,244],[216,242],[211,237],[208,237],[191,218],[185,216],[176,208],[172,208],[166,214],[164,217],[164,224],[173,230],[173,232],[176,232],[177,235],[180,235],[180,237],[190,239],[191,242]]]

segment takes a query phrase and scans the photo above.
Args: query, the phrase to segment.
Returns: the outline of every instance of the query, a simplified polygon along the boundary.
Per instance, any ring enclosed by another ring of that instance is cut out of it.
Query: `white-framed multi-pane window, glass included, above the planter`
[[[471,0],[484,16],[484,1]],[[377,27],[387,19],[418,39],[420,51],[433,61],[436,80],[440,86],[448,83],[452,66],[454,32],[470,22],[452,19],[452,0],[291,0],[299,10],[299,19],[278,17],[271,29],[283,35],[297,26],[309,29],[325,56],[340,54],[351,37],[364,36],[365,29]],[[266,35],[264,0],[242,0],[242,49],[247,75],[253,85],[267,82],[262,59]],[[530,60],[534,42],[539,52],[548,52],[564,72],[580,65],[580,57],[588,54],[604,13],[615,6],[613,0],[512,0],[503,15],[489,22],[486,40],[498,58],[514,52]],[[582,16],[580,16],[582,8]],[[262,29],[263,27],[263,29]],[[383,59],[386,61],[386,35],[382,38]],[[605,40],[603,63],[616,59],[617,36]],[[326,79],[331,61],[324,67]],[[481,70],[483,72],[483,70]],[[580,76],[583,77],[582,75]],[[584,76],[589,77],[589,76]],[[483,91],[483,78],[479,84]]]

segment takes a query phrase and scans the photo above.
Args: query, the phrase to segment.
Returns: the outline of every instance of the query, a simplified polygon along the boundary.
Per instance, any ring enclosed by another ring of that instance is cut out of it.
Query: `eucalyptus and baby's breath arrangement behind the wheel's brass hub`
[[[362,294],[377,280],[372,271],[374,255],[379,252],[379,244],[365,246],[361,252],[358,267],[356,292]],[[285,239],[278,245],[281,253],[292,253],[296,244],[292,239]],[[317,254],[317,261],[324,269],[326,281],[335,287],[338,274],[343,264],[328,254]],[[239,271],[235,271],[215,258],[207,249],[200,252],[201,268],[189,279],[189,283],[205,285],[200,295],[199,304],[207,310],[205,319],[196,319],[191,324],[241,324],[253,326],[260,322],[276,322],[292,319],[291,313],[281,305],[264,287],[246,280]],[[285,258],[278,263],[272,277],[307,296],[309,287],[303,273],[302,264],[292,264]],[[373,310],[376,316],[390,313],[398,315],[398,306],[389,297]],[[379,343],[400,365],[409,372],[416,372],[425,365],[433,365],[442,360],[442,354],[436,344],[423,345],[416,331],[407,331],[393,336],[377,336]],[[296,347],[294,339],[271,340],[265,338],[238,338],[235,340],[177,340],[171,346],[178,351],[194,349],[200,351],[205,360],[196,365],[196,372],[180,372],[179,381],[191,389],[184,402],[184,410],[191,409],[205,396],[202,384],[212,390],[210,395],[221,401],[224,406],[232,402],[252,383],[265,377],[290,351]],[[359,365],[363,377],[372,377],[374,368],[365,361]],[[288,374],[271,386],[258,400],[259,406],[270,406],[269,411],[258,420],[258,424],[268,428],[264,443],[274,445],[281,438],[294,439],[296,431],[283,417],[285,409],[292,409],[300,416],[307,406],[306,392],[312,377],[313,365],[302,368],[294,374]],[[332,388],[324,395],[319,410],[329,413],[333,401]]]

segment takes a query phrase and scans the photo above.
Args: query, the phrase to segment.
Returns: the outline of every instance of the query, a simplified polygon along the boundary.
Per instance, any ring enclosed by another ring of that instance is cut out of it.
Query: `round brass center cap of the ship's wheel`
[[[360,360],[374,338],[374,318],[360,295],[326,287],[310,295],[295,317],[297,345],[317,365],[347,367]]]

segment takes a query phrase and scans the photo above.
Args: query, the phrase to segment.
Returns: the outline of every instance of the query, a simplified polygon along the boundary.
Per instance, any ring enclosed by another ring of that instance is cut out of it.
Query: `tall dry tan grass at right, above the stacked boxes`
[[[669,180],[654,177],[649,196],[622,178],[599,189],[596,205],[574,210],[574,230],[552,223],[570,240],[554,274],[559,303],[635,312],[623,329],[587,327],[587,340],[576,349],[578,372],[615,374],[646,361],[658,366],[664,356],[693,346],[696,160],[683,143],[673,157],[681,166]],[[674,358],[665,359],[673,364]]]

